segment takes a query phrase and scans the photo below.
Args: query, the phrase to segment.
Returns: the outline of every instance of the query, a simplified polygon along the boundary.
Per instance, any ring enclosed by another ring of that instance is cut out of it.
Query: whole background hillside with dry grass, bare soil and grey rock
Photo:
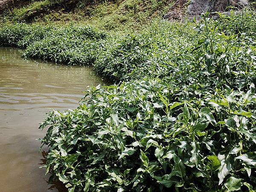
[[[79,22],[99,29],[142,29],[154,18],[184,20],[203,12],[226,12],[254,6],[247,0],[0,0],[0,18],[9,22]]]

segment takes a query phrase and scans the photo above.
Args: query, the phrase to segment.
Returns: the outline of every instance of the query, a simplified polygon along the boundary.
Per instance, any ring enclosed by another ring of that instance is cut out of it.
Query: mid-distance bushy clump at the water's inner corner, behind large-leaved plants
[[[160,21],[150,27],[141,34],[125,35],[105,44],[94,64],[96,72],[116,82],[163,75],[163,62],[175,64],[186,57],[183,53],[198,37],[190,23]]]

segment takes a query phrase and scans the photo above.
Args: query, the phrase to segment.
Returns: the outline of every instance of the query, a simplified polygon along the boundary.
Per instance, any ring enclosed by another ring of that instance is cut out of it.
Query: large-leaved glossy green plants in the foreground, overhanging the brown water
[[[255,189],[254,92],[187,101],[180,88],[188,87],[158,80],[95,88],[76,110],[50,113],[41,125],[50,125],[47,170],[70,191]]]

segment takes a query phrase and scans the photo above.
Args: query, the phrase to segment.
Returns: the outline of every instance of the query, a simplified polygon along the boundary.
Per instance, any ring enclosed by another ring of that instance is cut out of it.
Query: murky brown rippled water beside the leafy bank
[[[49,108],[76,108],[88,85],[102,82],[88,67],[23,60],[0,47],[0,192],[63,192],[48,185],[38,153]]]

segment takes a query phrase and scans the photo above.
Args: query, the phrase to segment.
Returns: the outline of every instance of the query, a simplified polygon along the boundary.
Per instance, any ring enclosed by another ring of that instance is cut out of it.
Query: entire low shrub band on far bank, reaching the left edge
[[[100,46],[98,40],[105,38],[104,32],[90,26],[56,28],[21,23],[0,28],[0,45],[26,48],[26,57],[73,65],[92,64]]]

